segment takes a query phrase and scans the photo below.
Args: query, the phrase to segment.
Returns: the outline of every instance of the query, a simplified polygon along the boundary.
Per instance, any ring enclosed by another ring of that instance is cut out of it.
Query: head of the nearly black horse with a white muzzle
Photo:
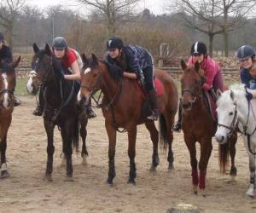
[[[26,89],[29,94],[36,95],[42,83],[53,82],[56,78],[61,78],[61,64],[52,55],[48,43],[45,44],[44,49],[39,49],[34,43],[33,50],[32,71],[29,74]]]

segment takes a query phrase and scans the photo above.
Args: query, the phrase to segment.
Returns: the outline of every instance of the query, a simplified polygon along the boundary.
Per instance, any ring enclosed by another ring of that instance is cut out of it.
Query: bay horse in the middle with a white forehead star
[[[153,142],[152,164],[150,170],[155,170],[160,163],[158,156],[159,133],[154,121],[147,119],[149,108],[144,106],[145,95],[138,89],[136,80],[122,77],[119,69],[114,69],[106,61],[98,60],[92,54],[90,59],[82,55],[84,68],[81,72],[81,88],[78,100],[89,100],[97,90],[102,89],[102,113],[105,118],[105,127],[108,134],[108,184],[113,184],[115,172],[115,147],[117,131],[126,130],[128,133],[128,156],[130,158],[130,172],[128,183],[136,184],[137,176],[135,155],[137,125],[145,124]],[[164,87],[164,95],[158,97],[160,110],[160,139],[169,145],[167,160],[169,170],[173,169],[172,153],[172,124],[177,112],[177,87],[172,77],[164,71],[154,70],[154,76],[160,80]],[[147,108],[144,110],[144,108]]]

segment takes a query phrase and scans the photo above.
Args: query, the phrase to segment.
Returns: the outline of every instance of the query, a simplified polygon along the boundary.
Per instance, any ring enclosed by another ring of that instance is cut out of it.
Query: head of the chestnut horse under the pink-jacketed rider
[[[195,62],[194,66],[187,66],[184,60],[181,60],[181,66],[183,68],[181,103],[183,110],[191,110],[193,103],[202,94],[202,86],[205,82],[204,72],[199,62]]]

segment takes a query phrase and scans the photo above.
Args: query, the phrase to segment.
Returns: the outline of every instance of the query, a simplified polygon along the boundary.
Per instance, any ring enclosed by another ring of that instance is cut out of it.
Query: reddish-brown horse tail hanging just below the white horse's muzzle
[[[229,164],[229,153],[230,153],[229,143],[218,145],[218,164],[219,164],[219,170],[222,174],[225,173],[226,166]]]

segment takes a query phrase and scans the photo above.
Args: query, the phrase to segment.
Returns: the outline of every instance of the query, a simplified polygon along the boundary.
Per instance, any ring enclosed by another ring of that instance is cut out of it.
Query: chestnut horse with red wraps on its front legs
[[[201,71],[200,64],[196,62],[195,66],[187,66],[185,62],[181,60],[181,67],[183,68],[183,75],[181,77],[182,130],[184,141],[189,149],[193,192],[197,194],[199,187],[201,195],[205,196],[207,164],[212,153],[212,136],[217,129],[217,125],[204,101],[204,89],[202,86],[205,82],[205,78],[204,73]],[[230,149],[229,144],[219,147],[219,165],[223,173],[225,171],[225,166],[228,163],[228,153],[230,150],[231,176],[236,176],[236,140],[236,131],[234,131],[229,138]],[[201,147],[199,164],[196,159],[196,141],[200,143]],[[200,170],[199,177],[198,167]]]

